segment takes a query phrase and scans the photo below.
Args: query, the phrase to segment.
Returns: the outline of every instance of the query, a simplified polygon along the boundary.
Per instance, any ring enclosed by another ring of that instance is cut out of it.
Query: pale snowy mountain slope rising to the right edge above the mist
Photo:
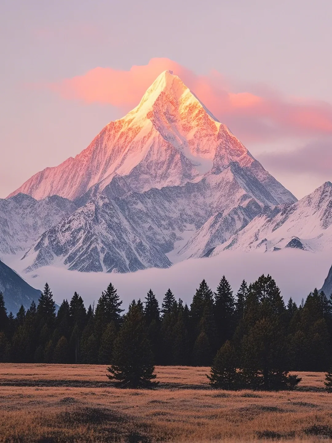
[[[259,215],[228,241],[214,249],[278,251],[296,248],[323,251],[332,247],[332,183],[292,205],[276,207],[272,214]]]

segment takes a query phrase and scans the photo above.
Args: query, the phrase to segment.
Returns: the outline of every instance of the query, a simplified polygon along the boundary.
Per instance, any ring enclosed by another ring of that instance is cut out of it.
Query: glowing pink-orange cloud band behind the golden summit
[[[97,67],[48,87],[65,99],[108,103],[127,112],[139,103],[155,78],[168,69],[243,141],[332,134],[332,106],[328,103],[286,100],[278,94],[270,97],[246,91],[236,93],[229,90],[217,71],[197,75],[168,58],[152,58],[147,65],[132,66],[128,71]]]

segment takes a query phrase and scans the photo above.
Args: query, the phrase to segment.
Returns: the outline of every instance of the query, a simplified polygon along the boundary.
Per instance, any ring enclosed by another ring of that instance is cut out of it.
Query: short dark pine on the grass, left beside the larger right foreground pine
[[[239,389],[240,375],[236,370],[236,354],[231,342],[227,341],[217,352],[208,375],[210,385],[218,389]]]

